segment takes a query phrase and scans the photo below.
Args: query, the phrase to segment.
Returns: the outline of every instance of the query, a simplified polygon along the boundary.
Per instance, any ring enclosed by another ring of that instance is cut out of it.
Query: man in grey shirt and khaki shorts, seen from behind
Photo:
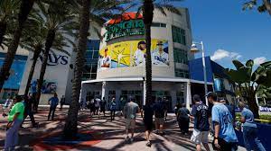
[[[126,141],[133,142],[134,140],[134,132],[135,132],[135,118],[136,113],[139,112],[139,107],[136,102],[134,102],[134,99],[130,99],[130,102],[126,102],[126,105],[124,106],[124,117],[126,119]],[[129,138],[129,129],[131,132],[131,138]]]

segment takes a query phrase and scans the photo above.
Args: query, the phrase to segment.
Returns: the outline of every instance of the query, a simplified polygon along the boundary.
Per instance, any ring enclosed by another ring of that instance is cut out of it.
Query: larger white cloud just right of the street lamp
[[[242,56],[238,54],[237,52],[229,52],[225,49],[218,49],[216,50],[213,55],[210,57],[211,60],[216,61],[223,58],[230,58],[230,59],[238,59]]]

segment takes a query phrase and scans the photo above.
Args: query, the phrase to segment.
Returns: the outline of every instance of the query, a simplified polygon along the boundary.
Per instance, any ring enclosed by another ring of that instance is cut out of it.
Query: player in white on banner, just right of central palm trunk
[[[158,66],[169,66],[168,54],[164,52],[163,41],[158,41],[158,49],[153,53],[153,63]]]

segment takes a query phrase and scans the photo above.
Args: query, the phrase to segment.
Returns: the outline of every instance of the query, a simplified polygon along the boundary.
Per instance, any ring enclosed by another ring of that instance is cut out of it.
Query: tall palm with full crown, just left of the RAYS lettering
[[[40,77],[38,80],[38,90],[36,96],[36,105],[38,105],[41,93],[42,83],[45,75],[47,61],[50,50],[54,43],[56,43],[57,36],[61,36],[62,40],[73,43],[70,37],[75,37],[76,20],[73,13],[70,13],[70,8],[67,7],[65,1],[51,0],[46,3],[38,3],[39,12],[33,17],[36,22],[41,22],[44,28],[47,29],[45,48],[42,55],[42,67]],[[61,9],[59,9],[61,8]],[[35,107],[37,109],[37,106]]]

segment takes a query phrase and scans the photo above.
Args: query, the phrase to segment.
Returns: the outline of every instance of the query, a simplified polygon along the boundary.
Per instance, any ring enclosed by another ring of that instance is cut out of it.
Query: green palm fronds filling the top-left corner
[[[8,26],[14,24],[15,15],[19,11],[20,0],[0,1],[0,46],[4,41],[4,36],[8,31]]]

